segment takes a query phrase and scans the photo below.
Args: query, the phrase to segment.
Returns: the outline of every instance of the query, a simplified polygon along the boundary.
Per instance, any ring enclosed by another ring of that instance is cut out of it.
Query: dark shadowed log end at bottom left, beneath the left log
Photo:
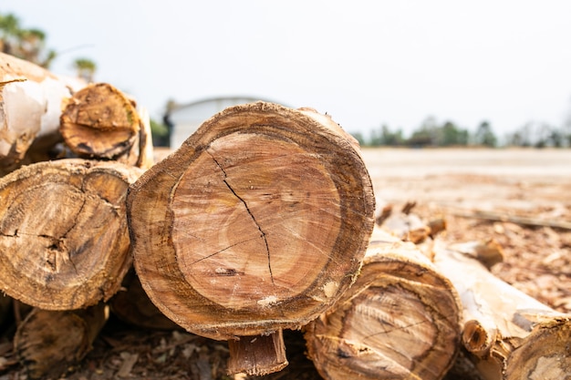
[[[64,374],[91,350],[107,322],[107,306],[53,312],[34,309],[16,330],[14,349],[29,378]]]

